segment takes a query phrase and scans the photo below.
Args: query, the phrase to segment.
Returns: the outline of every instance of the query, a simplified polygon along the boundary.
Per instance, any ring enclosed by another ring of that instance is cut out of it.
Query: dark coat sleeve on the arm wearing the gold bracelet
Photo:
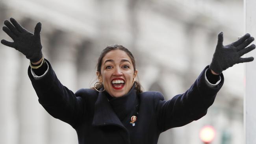
[[[85,111],[85,101],[80,97],[80,91],[74,94],[67,87],[63,86],[57,78],[49,61],[48,71],[44,76],[35,78],[32,76],[31,68],[28,68],[28,76],[38,96],[39,103],[54,118],[58,118],[75,127],[79,115]]]

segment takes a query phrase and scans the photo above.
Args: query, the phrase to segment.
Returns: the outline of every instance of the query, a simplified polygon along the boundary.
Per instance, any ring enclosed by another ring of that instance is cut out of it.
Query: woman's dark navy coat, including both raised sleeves
[[[195,83],[184,93],[165,101],[160,92],[136,94],[134,86],[120,98],[108,101],[107,92],[80,89],[75,94],[63,86],[49,64],[41,79],[28,75],[39,103],[53,117],[76,129],[79,144],[157,144],[161,132],[184,126],[204,116],[223,85],[210,87],[204,68]],[[135,126],[130,118],[139,104]]]

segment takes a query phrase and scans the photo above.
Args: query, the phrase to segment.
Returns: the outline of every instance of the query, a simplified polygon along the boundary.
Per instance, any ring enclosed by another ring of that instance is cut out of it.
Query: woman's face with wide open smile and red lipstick
[[[102,59],[101,74],[96,73],[105,90],[112,97],[121,97],[132,88],[134,72],[132,60],[123,50],[111,50]]]

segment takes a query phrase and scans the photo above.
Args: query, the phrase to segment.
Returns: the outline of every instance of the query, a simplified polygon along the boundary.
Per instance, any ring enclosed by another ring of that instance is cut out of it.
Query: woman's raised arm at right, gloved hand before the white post
[[[253,61],[253,57],[241,58],[242,55],[255,49],[254,44],[248,46],[252,41],[254,38],[250,37],[250,34],[245,34],[236,42],[223,46],[223,32],[219,33],[210,66],[202,71],[195,83],[185,93],[176,95],[168,101],[163,100],[161,93],[156,93],[155,105],[160,130],[165,131],[172,127],[184,126],[204,116],[223,85],[222,71],[237,63]],[[216,85],[211,84],[206,76],[208,68],[212,74],[220,75],[221,81]]]

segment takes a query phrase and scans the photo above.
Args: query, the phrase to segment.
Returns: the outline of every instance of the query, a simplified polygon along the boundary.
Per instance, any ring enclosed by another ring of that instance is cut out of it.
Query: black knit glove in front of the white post
[[[253,61],[253,57],[241,58],[242,55],[255,49],[254,44],[248,46],[252,41],[254,41],[254,38],[247,33],[236,42],[223,46],[223,32],[219,33],[210,69],[217,74],[221,74],[223,70],[237,63]],[[245,48],[246,46],[248,47]]]

